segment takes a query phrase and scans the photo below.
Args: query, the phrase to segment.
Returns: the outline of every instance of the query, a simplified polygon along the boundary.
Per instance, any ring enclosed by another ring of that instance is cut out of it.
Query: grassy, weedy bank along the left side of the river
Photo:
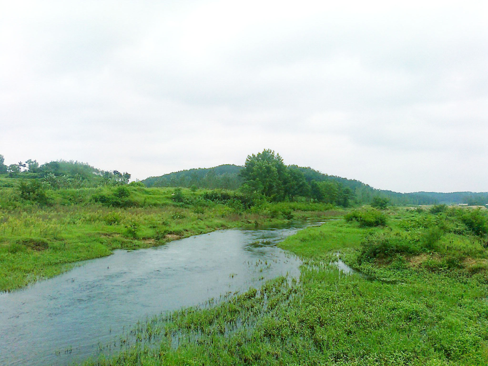
[[[101,187],[46,192],[47,203],[40,205],[20,199],[15,187],[0,188],[0,291],[56,276],[114,249],[342,214],[320,203],[262,202],[244,209],[221,191]]]

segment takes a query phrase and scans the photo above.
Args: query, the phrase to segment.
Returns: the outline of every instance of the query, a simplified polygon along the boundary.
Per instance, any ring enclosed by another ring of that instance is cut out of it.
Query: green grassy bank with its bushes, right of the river
[[[300,282],[156,316],[100,364],[487,365],[487,218],[397,210],[367,227],[368,215],[287,238]],[[337,253],[358,272],[336,270]]]

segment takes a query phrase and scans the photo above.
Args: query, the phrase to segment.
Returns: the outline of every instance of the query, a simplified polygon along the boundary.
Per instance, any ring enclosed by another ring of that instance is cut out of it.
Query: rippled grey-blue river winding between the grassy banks
[[[229,229],[116,250],[23,290],[0,293],[0,365],[69,365],[97,357],[139,320],[300,275],[276,243],[311,223]]]

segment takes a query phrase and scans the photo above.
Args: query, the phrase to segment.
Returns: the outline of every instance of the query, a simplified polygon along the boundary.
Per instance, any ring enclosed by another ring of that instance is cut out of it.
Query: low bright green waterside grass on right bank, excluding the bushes
[[[334,269],[336,252],[352,265],[366,236],[385,231],[341,221],[302,230],[281,244],[305,260],[299,282],[155,316],[121,337],[119,354],[85,365],[486,365],[483,276],[405,262],[378,267],[400,278],[386,283]]]

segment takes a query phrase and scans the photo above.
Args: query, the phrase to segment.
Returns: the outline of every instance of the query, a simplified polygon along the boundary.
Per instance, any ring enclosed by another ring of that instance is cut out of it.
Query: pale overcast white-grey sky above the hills
[[[488,2],[404,2],[2,1],[0,154],[488,191]]]

